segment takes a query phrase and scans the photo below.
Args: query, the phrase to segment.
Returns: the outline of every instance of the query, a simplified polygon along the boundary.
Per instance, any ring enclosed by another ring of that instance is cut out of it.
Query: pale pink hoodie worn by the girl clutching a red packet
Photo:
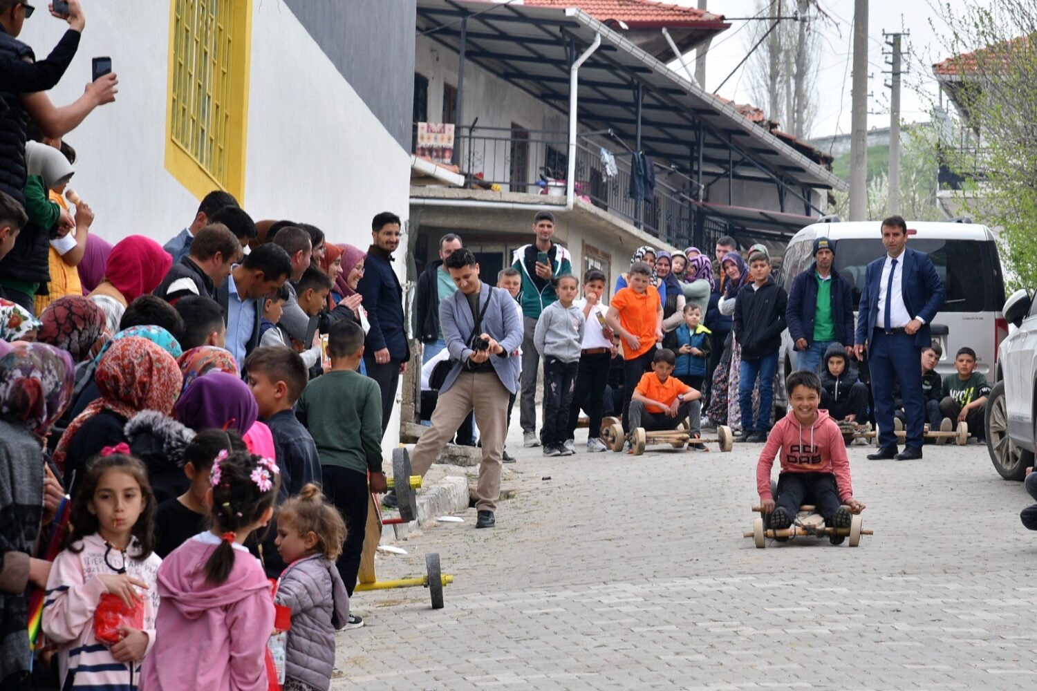
[[[131,555],[136,544],[130,547]],[[134,662],[131,671],[130,663],[116,662],[108,645],[97,642],[93,635],[93,612],[101,596],[108,592],[99,576],[117,573],[116,569],[123,566],[122,554],[115,549],[109,550],[99,535],[87,536],[76,546],[83,551],[77,553],[66,549],[54,559],[44,601],[43,629],[47,637],[58,644],[61,688],[129,691],[136,688],[141,679],[141,661]],[[147,634],[145,656],[156,641],[159,593],[155,581],[160,564],[162,559],[153,552],[140,562],[128,555],[124,564],[128,576],[148,584],[148,589],[142,592],[143,631]],[[69,674],[74,681],[67,679]]]

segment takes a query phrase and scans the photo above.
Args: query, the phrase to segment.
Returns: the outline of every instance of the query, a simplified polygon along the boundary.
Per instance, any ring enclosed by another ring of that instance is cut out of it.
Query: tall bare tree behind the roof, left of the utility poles
[[[763,40],[746,63],[753,100],[796,137],[809,136],[817,117],[820,35],[807,21],[814,5],[816,0],[756,0],[757,15],[782,19],[753,22],[746,39],[746,50]]]

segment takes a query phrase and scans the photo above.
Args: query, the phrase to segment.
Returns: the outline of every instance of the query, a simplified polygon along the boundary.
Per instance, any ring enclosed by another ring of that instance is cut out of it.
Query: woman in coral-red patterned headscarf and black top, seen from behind
[[[153,341],[132,336],[109,344],[94,373],[101,398],[68,424],[54,452],[69,494],[88,459],[127,441],[123,429],[131,418],[141,410],[172,413],[181,380],[176,359]]]

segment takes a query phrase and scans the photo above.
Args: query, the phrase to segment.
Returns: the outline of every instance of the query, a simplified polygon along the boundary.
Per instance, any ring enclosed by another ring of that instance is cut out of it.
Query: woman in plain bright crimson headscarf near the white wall
[[[150,237],[131,235],[115,243],[105,263],[105,278],[88,297],[108,318],[108,330],[119,329],[127,306],[159,287],[173,258]]]

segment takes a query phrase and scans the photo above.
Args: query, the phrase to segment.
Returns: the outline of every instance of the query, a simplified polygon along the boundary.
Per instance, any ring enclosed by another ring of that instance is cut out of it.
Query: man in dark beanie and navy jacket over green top
[[[814,240],[814,263],[795,277],[785,320],[795,343],[797,370],[817,372],[821,355],[833,343],[853,337],[853,287],[833,268],[835,242]],[[846,352],[852,351],[846,346]]]

